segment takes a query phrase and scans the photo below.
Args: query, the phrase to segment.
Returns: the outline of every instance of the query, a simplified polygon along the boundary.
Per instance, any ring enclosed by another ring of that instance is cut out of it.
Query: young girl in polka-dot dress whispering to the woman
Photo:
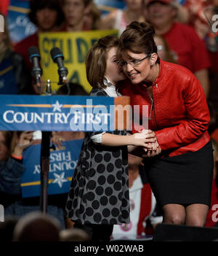
[[[115,36],[105,36],[89,50],[90,96],[120,96],[116,84],[125,77],[116,59],[117,47]],[[65,210],[74,226],[86,230],[92,241],[110,241],[113,225],[129,222],[127,145],[155,143],[151,131],[124,135],[126,131],[86,133],[81,148]]]

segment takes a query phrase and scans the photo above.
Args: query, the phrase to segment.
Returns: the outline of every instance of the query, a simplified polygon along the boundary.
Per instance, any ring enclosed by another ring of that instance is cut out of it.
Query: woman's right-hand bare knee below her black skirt
[[[186,207],[185,225],[203,227],[209,206],[202,203],[193,203]]]

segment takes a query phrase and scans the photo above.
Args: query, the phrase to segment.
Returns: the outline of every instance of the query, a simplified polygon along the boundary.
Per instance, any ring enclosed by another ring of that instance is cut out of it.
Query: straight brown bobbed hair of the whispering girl
[[[105,88],[107,53],[111,47],[118,47],[118,38],[105,36],[99,39],[86,55],[86,77],[93,88]]]

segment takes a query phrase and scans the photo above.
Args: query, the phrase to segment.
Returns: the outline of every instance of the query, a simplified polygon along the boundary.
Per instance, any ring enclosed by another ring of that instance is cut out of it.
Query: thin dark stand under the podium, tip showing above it
[[[52,95],[50,80],[47,80],[47,95]],[[44,214],[47,213],[48,203],[48,178],[49,178],[49,155],[51,131],[41,131],[41,193],[40,209]]]

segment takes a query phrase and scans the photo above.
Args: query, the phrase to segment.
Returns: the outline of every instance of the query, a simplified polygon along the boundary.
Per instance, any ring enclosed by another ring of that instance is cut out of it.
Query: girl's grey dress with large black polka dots
[[[105,96],[100,88],[92,96]],[[126,135],[125,131],[113,132]],[[121,225],[129,222],[127,147],[105,149],[86,133],[65,206],[71,220],[92,224]],[[109,151],[110,150],[110,151]]]

